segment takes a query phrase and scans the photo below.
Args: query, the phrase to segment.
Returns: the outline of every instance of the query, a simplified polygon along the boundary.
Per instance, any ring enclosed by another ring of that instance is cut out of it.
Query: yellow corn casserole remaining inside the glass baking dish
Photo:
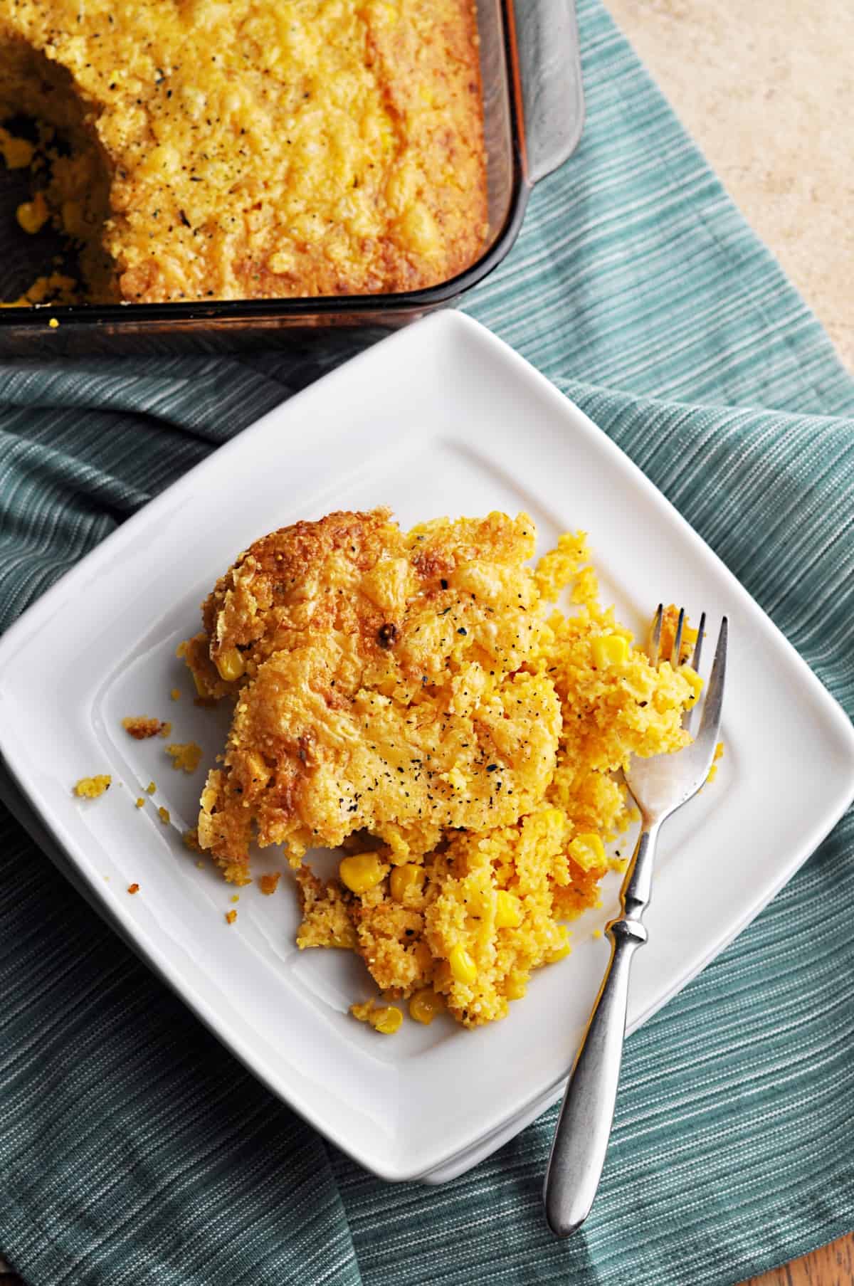
[[[477,40],[471,0],[4,0],[0,118],[46,158],[22,219],[96,302],[448,280],[487,233]]]

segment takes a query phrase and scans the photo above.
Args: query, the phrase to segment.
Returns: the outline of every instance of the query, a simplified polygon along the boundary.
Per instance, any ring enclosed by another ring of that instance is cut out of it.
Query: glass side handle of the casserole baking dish
[[[532,185],[575,152],[584,89],[575,0],[514,0],[526,177]]]

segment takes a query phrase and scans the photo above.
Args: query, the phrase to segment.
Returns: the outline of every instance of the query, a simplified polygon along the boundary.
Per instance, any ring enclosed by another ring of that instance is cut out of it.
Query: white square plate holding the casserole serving
[[[572,954],[543,970],[505,1021],[477,1031],[449,1019],[405,1022],[379,1038],[347,1016],[372,992],[361,963],[296,949],[287,876],[274,896],[241,890],[238,919],[225,923],[233,887],[181,844],[203,770],[174,772],[161,738],[135,742],[120,723],[171,719],[172,738],[201,742],[210,763],[228,711],[193,705],[175,646],[198,629],[215,577],[277,526],[386,503],[406,526],[523,508],[543,547],[586,530],[603,597],[638,633],[662,597],[695,617],[705,608],[713,628],[729,615],[727,754],[714,788],[665,827],[630,1026],[743,928],[842,814],[854,733],[628,458],[454,312],[386,340],[241,433],[24,613],[0,642],[0,752],[46,828],[42,844],[60,850],[77,886],[274,1093],[374,1173],[435,1181],[486,1155],[558,1092],[606,964],[607,944],[592,930],[616,905],[616,880],[604,908],[572,926]],[[105,796],[72,796],[78,777],[104,772]],[[149,779],[157,796],[138,810]],[[269,850],[255,865],[275,868],[286,869]]]

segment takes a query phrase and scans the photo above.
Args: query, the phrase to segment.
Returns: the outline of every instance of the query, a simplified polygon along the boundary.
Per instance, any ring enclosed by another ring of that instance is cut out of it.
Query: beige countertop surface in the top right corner
[[[854,372],[854,0],[604,0]]]

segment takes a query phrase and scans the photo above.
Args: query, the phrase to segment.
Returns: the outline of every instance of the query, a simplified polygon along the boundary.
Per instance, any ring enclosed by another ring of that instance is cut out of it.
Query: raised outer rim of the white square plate
[[[419,334],[430,340],[431,331],[436,332],[440,337],[441,332],[446,332],[444,342],[449,342],[453,341],[453,332],[455,329],[460,329],[460,332],[467,333],[468,337],[475,337],[476,342],[481,343],[485,349],[491,349],[494,355],[500,356],[500,359],[516,372],[518,379],[527,381],[529,385],[534,382],[539,387],[539,391],[550,399],[550,405],[554,409],[554,413],[562,417],[566,427],[568,428],[568,421],[572,421],[572,430],[577,430],[586,433],[588,437],[593,437],[595,440],[595,446],[607,455],[608,463],[626,475],[634,487],[639,487],[640,491],[646,493],[647,499],[651,499],[656,508],[662,509],[670,522],[675,522],[678,525],[680,536],[688,539],[696,549],[702,550],[704,558],[714,562],[716,572],[719,576],[724,577],[727,588],[740,597],[742,608],[746,608],[750,615],[761,620],[763,629],[773,635],[776,646],[782,646],[790,662],[794,661],[796,664],[797,673],[806,685],[809,698],[821,707],[824,727],[833,725],[837,737],[841,737],[842,741],[846,742],[851,760],[851,769],[854,772],[854,729],[851,729],[844,710],[824,688],[804,658],[796,652],[792,644],[779,631],[773,620],[761,610],[761,607],[759,607],[755,599],[741,585],[729,568],[727,568],[718,554],[715,554],[715,552],[702,540],[693,527],[691,527],[687,520],[682,517],[675,507],[661,491],[659,491],[650,478],[646,477],[638,466],[634,464],[634,462],[613,441],[611,441],[611,439],[601,428],[598,428],[593,421],[589,419],[581,408],[565,396],[545,376],[530,365],[530,363],[527,363],[520,354],[512,350],[490,331],[466,314],[455,311],[432,314],[431,316],[403,329],[401,332],[388,336],[378,345],[374,345],[349,361],[342,363],[338,368],[327,373],[305,390],[301,390],[298,394],[295,394],[287,401],[280,403],[241,433],[235,435],[235,437],[230,441],[211,451],[210,455],[161,491],[153,500],[117,527],[116,531],[111,532],[103,541],[95,545],[89,554],[71,567],[42,595],[40,595],[40,598],[30,604],[21,617],[18,617],[18,620],[14,621],[0,638],[0,666],[6,658],[6,655],[17,651],[21,646],[24,646],[26,639],[40,629],[44,620],[54,615],[54,606],[62,602],[71,593],[78,580],[86,580],[98,571],[103,562],[113,558],[126,544],[132,543],[138,530],[143,530],[147,526],[150,526],[152,522],[156,522],[158,514],[174,505],[175,500],[180,498],[184,491],[192,490],[194,484],[198,484],[199,478],[204,476],[207,469],[221,468],[223,460],[228,458],[228,453],[246,451],[247,445],[265,432],[266,426],[271,419],[278,421],[283,415],[289,414],[291,408],[293,406],[300,408],[305,400],[310,400],[313,396],[316,396],[318,390],[320,390],[322,386],[322,391],[329,396],[329,394],[334,391],[336,382],[346,383],[349,379],[352,379],[354,370],[360,369],[363,365],[374,363],[376,355],[379,350],[385,350],[385,356],[388,359],[392,352],[392,346],[408,346],[415,351],[415,340]],[[439,342],[442,342],[442,340],[440,338]],[[1,698],[3,683],[0,682],[0,700]],[[45,810],[41,806],[37,786],[35,782],[27,779],[26,773],[22,774],[19,772],[19,765],[17,765],[14,760],[14,752],[12,755],[9,754],[1,724],[0,754],[3,754],[9,773],[12,774],[18,788],[23,792],[26,800],[33,806],[40,822],[58,844],[60,851],[72,859],[77,873],[85,880],[86,885],[91,890],[98,909],[103,907],[104,912],[107,912],[107,922],[111,927],[114,927],[112,922],[112,908],[107,904],[103,889],[100,889],[96,882],[90,878],[85,854],[80,851],[73,836],[66,833],[64,828],[58,824],[58,819],[51,818],[50,810]],[[642,1017],[631,1025],[633,1030],[646,1021],[653,1012],[656,1012],[657,1008],[671,999],[673,995],[691,980],[691,977],[696,976],[696,974],[700,972],[705,964],[714,959],[719,952],[723,950],[723,948],[750,923],[750,921],[791,878],[794,872],[803,864],[806,856],[809,856],[814,847],[836,824],[850,804],[853,796],[854,781],[851,782],[848,793],[845,791],[840,792],[837,800],[839,808],[826,813],[813,827],[809,842],[796,850],[786,864],[781,864],[779,871],[777,872],[778,878],[776,880],[774,886],[767,891],[767,895],[761,900],[751,903],[746,909],[743,909],[743,914],[734,923],[734,927],[731,926],[731,932],[720,941],[716,941],[710,946],[709,953],[696,968],[680,975],[679,979],[665,990],[660,999],[644,1011]],[[296,1094],[292,1089],[286,1091],[282,1085],[274,1084],[270,1078],[264,1074],[264,1070],[260,1069],[253,1061],[251,1051],[243,1048],[242,1042],[235,1037],[235,1034],[223,1029],[221,1025],[217,1025],[216,1010],[208,1006],[204,998],[188,992],[186,980],[181,977],[180,970],[172,970],[170,967],[168,961],[163,958],[162,952],[158,949],[156,940],[153,940],[149,934],[143,932],[139,926],[132,926],[131,936],[138,954],[140,954],[149,967],[152,967],[154,972],[181,997],[181,999],[206,1024],[206,1026],[214,1031],[217,1039],[220,1039],[226,1048],[229,1048],[235,1057],[238,1057],[244,1066],[252,1071],[253,1075],[262,1080],[271,1093],[283,1098],[289,1107],[331,1138],[336,1146],[341,1147],[342,1151],[352,1156],[360,1165],[372,1170],[381,1178],[388,1181],[414,1179],[427,1175],[432,1170],[441,1169],[444,1165],[451,1164],[454,1157],[469,1148],[476,1150],[482,1139],[500,1132],[503,1125],[507,1125],[513,1118],[523,1116],[531,1103],[541,1101],[544,1096],[554,1093],[556,1088],[561,1084],[561,1078],[558,1078],[550,1087],[544,1088],[543,1085],[538,1085],[535,1091],[525,1097],[525,1100],[514,1103],[513,1111],[504,1115],[503,1123],[498,1121],[496,1124],[490,1125],[489,1129],[481,1134],[467,1139],[462,1145],[454,1145],[450,1150],[444,1148],[442,1151],[439,1151],[436,1156],[430,1157],[427,1165],[418,1165],[413,1168],[406,1164],[385,1164],[382,1159],[369,1157],[364,1154],[364,1151],[354,1148],[346,1138],[342,1138],[331,1130],[323,1121],[322,1116],[319,1116],[310,1105],[300,1101],[301,1096]]]

